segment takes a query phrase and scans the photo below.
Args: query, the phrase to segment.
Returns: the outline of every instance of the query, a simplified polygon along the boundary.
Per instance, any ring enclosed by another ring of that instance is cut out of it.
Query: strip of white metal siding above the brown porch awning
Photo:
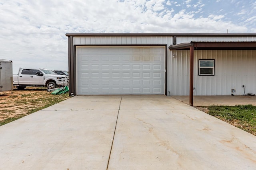
[[[190,41],[256,41],[256,37],[242,37],[242,36],[234,36],[234,37],[205,37],[205,36],[179,36],[176,39],[176,43],[186,43]]]

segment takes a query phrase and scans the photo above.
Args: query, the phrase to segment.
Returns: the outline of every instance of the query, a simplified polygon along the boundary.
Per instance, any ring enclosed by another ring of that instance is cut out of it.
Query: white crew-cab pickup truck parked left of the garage
[[[59,75],[46,69],[20,68],[19,73],[13,75],[13,85],[19,90],[26,86],[53,89],[56,86],[68,86],[68,76]]]

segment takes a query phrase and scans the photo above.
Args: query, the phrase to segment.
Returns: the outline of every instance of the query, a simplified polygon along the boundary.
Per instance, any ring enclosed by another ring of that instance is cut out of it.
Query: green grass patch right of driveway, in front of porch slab
[[[256,135],[256,106],[207,106],[208,114]]]

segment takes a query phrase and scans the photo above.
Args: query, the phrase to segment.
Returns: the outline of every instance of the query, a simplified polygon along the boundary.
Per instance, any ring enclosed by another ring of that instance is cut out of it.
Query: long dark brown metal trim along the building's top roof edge
[[[66,36],[256,36],[256,33],[66,33]]]

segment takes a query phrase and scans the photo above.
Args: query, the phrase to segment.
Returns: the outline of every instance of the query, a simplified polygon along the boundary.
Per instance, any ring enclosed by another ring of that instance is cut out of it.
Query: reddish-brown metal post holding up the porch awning
[[[190,46],[189,105],[193,106],[194,44]]]

